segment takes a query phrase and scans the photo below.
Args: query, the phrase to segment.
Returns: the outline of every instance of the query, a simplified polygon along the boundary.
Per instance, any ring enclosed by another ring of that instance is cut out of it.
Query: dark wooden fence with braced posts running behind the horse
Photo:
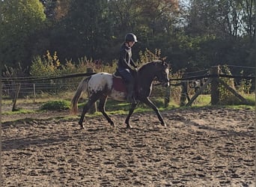
[[[76,73],[76,74],[70,74],[65,76],[55,76],[55,77],[46,77],[46,78],[40,78],[40,79],[29,79],[29,82],[40,82],[45,80],[52,80],[52,79],[67,79],[67,78],[74,78],[74,77],[80,77],[80,76],[91,76],[94,74],[93,70],[88,69],[87,73]],[[210,69],[210,73],[204,76],[190,76],[186,78],[180,78],[180,79],[171,79],[170,82],[177,82],[180,81],[180,83],[177,84],[171,84],[175,86],[182,86],[181,96],[180,96],[180,103],[181,105],[191,106],[192,103],[195,101],[195,99],[204,92],[204,90],[207,88],[208,85],[210,85],[210,95],[211,95],[211,105],[218,105],[219,104],[219,84],[223,85],[228,91],[233,93],[235,96],[237,96],[238,99],[240,99],[244,104],[248,104],[249,102],[240,95],[240,93],[237,93],[237,91],[234,90],[234,88],[231,88],[228,84],[226,84],[221,77],[234,79],[255,79],[255,76],[231,76],[231,75],[225,75],[222,74],[220,71],[220,67],[212,67]],[[198,79],[207,79],[206,82],[204,82],[204,85],[201,85],[201,87],[195,91],[195,95],[192,96],[191,99],[189,99],[189,94],[187,93],[187,85],[186,82],[192,81],[192,80],[198,80]],[[19,96],[19,91],[21,88],[21,83],[16,84],[16,91],[13,96],[13,111],[16,110],[16,99]],[[33,84],[33,90],[34,90],[34,99],[35,99],[35,84]],[[171,87],[167,88],[165,91],[165,107],[168,106],[171,98]],[[184,104],[184,101],[188,99],[189,102]],[[91,113],[94,111],[97,111],[96,103],[93,108],[91,108]]]

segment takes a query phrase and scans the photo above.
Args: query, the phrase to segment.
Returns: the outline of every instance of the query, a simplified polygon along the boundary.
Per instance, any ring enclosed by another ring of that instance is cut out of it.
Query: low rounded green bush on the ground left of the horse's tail
[[[65,100],[49,101],[40,107],[41,110],[60,111],[70,109],[70,102]]]

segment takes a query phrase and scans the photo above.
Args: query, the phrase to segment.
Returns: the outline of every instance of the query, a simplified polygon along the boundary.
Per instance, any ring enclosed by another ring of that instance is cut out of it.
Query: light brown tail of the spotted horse
[[[85,91],[87,91],[88,89],[88,82],[91,79],[91,76],[83,79],[80,83],[78,88],[76,89],[76,93],[73,96],[73,99],[71,100],[71,113],[72,114],[76,114],[78,111],[78,106],[77,103],[79,101],[80,96],[82,96],[82,93],[84,93]]]

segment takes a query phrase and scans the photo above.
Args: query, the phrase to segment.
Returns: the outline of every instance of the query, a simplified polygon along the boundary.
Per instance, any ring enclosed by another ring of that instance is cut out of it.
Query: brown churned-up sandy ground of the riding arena
[[[255,186],[255,111],[177,108],[167,127],[133,114],[133,129],[67,115],[1,117],[2,186]]]

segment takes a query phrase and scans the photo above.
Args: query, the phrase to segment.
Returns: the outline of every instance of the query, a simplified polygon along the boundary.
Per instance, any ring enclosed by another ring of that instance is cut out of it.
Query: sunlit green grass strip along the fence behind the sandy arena
[[[69,109],[70,107],[70,100],[72,98],[72,93],[67,93],[61,96],[49,96],[46,97],[41,96],[36,99],[36,102],[33,101],[31,98],[25,98],[25,99],[18,99],[17,105],[19,106],[20,103],[22,105],[40,105],[42,109],[44,110],[58,110],[61,109],[60,107],[64,107],[64,109]],[[249,108],[249,109],[255,109],[255,94],[247,94],[244,95],[244,97],[249,101],[248,105],[244,105],[241,103],[235,103],[234,105],[219,105],[219,107],[229,107],[229,108]],[[171,102],[168,104],[168,106],[164,107],[164,99],[163,98],[150,98],[153,103],[155,103],[156,107],[159,108],[159,111],[166,111],[171,110],[173,108],[179,108],[179,101],[171,100]],[[210,95],[199,95],[197,99],[192,103],[191,107],[205,107],[210,106]],[[86,99],[82,99],[82,102],[79,102],[79,108],[82,108],[85,105]],[[81,101],[81,100],[80,100]],[[2,99],[2,105],[11,105],[12,100],[11,99]],[[45,106],[45,108],[43,108]],[[181,108],[187,108],[186,106],[183,106]],[[63,108],[62,108],[63,109]],[[106,111],[108,114],[127,114],[129,111],[129,103],[127,102],[118,102],[112,99],[108,99],[106,102]],[[147,105],[144,105],[143,103],[139,103],[138,106],[135,108],[135,112],[147,112],[147,111],[153,111],[151,108],[149,108]],[[37,109],[37,110],[29,110],[29,109],[22,109],[19,108],[18,111],[4,111],[1,112],[1,114],[11,115],[11,114],[31,114],[31,113],[39,113],[43,112],[43,110]],[[100,115],[100,112],[96,112],[94,114],[88,114],[90,116],[94,115]]]

